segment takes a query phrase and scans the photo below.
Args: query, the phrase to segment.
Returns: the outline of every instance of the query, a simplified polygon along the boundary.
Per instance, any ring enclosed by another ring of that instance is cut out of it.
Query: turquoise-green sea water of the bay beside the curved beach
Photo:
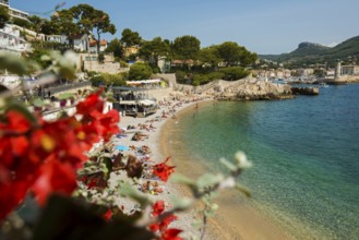
[[[252,204],[295,238],[359,239],[359,84],[201,106],[177,128],[186,151],[213,170],[243,151],[254,164],[241,179]]]

